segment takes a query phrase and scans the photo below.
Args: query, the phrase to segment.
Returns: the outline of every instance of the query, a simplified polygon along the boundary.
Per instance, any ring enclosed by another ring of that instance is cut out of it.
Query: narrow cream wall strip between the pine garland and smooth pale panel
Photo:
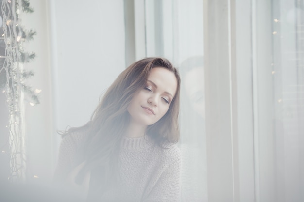
[[[24,49],[35,52],[36,58],[24,64],[25,70],[34,71],[26,82],[33,89],[40,89],[40,104],[31,106],[25,102],[25,136],[27,178],[31,180],[50,179],[53,167],[53,108],[51,94],[50,33],[48,30],[47,0],[31,0],[32,14],[21,14],[25,29],[37,32],[34,40],[24,43]],[[38,176],[34,178],[34,175]]]

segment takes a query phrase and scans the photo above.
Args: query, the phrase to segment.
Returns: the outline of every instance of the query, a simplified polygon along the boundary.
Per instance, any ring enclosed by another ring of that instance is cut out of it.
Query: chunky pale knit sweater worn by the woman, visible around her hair
[[[87,138],[75,131],[62,139],[54,178],[65,179],[78,164],[78,151]],[[149,136],[123,137],[120,150],[120,183],[105,192],[106,202],[179,202],[181,155],[178,147],[161,148]]]

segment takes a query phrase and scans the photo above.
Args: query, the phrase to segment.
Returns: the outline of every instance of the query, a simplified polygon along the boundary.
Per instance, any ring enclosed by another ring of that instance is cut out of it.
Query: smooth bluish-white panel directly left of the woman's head
[[[50,9],[56,125],[65,129],[89,120],[101,92],[125,68],[123,0],[55,0]]]

